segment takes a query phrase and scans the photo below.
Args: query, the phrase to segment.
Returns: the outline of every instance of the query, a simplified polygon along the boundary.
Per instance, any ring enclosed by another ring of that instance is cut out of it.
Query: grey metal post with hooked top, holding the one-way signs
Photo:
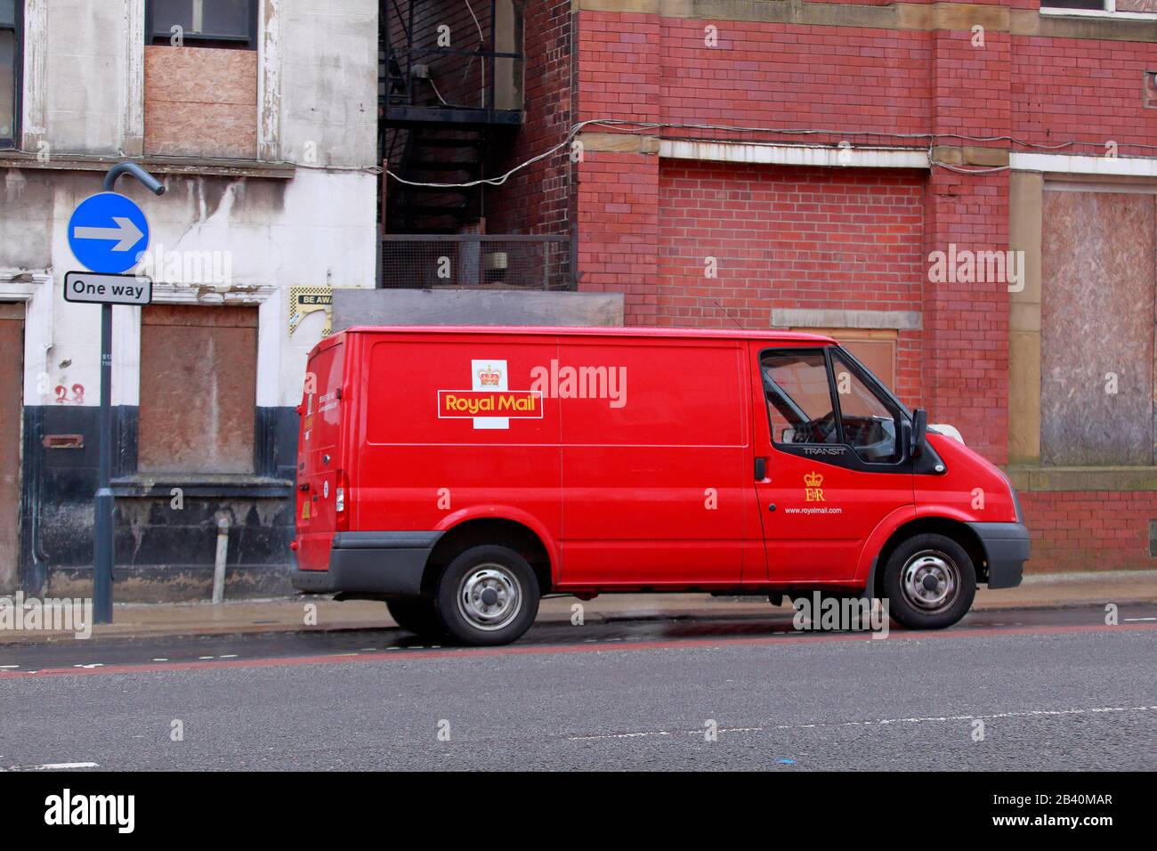
[[[164,186],[134,162],[120,162],[104,176],[104,191],[113,192],[117,178],[131,175],[153,195],[164,195]],[[112,305],[101,305],[101,416],[100,455],[96,483],[96,523],[93,556],[93,619],[112,623]]]

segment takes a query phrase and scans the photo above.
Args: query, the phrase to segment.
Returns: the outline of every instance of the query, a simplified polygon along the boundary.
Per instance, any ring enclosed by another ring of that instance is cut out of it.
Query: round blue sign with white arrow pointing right
[[[90,272],[127,272],[148,248],[148,219],[125,196],[100,192],[73,211],[68,220],[68,248]]]

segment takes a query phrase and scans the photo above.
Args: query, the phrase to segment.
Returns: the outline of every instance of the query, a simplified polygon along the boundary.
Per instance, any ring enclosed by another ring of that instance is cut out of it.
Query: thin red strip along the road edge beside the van
[[[644,650],[680,650],[694,647],[725,647],[729,645],[774,645],[801,644],[810,641],[878,641],[878,640],[915,640],[944,638],[980,638],[987,636],[1063,636],[1082,632],[1136,632],[1155,631],[1157,623],[1133,623],[1108,626],[1103,624],[1069,626],[1018,626],[1018,628],[958,628],[938,631],[899,631],[893,630],[886,639],[874,639],[864,634],[839,633],[833,636],[796,633],[790,636],[768,636],[764,638],[686,638],[646,641],[597,641],[580,645],[508,645],[504,647],[463,647],[447,650],[406,650],[358,654],[323,654],[311,656],[272,656],[264,659],[228,659],[198,660],[189,662],[142,662],[140,665],[108,665],[98,668],[43,668],[39,670],[0,672],[0,682],[40,676],[90,676],[94,674],[143,674],[169,670],[215,670],[220,668],[268,668],[292,665],[326,665],[334,662],[379,662],[386,660],[415,659],[474,659],[478,656],[503,655],[543,655],[550,653],[611,653]]]

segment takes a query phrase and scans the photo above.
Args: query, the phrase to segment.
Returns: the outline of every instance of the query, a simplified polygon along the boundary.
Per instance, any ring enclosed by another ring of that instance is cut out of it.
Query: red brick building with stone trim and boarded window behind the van
[[[628,324],[823,329],[1008,464],[1030,571],[1152,567],[1157,2],[530,0],[478,227]]]

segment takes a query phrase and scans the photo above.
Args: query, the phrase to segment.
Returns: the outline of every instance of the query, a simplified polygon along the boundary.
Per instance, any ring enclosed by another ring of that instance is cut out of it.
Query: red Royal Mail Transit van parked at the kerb
[[[942,628],[1029,557],[1004,474],[816,335],[352,328],[299,411],[294,586],[419,634],[503,644],[543,594],[649,590]]]

